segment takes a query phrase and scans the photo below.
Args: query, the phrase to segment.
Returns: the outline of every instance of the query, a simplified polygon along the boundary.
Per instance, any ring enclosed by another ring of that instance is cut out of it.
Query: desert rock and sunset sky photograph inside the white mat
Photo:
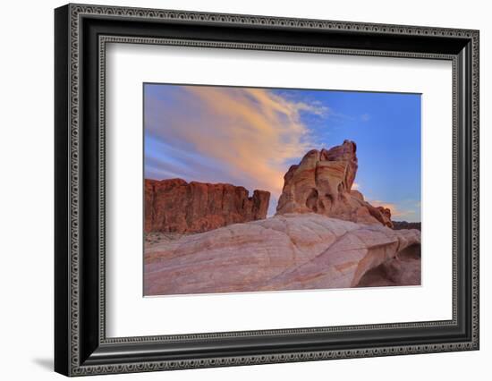
[[[145,296],[420,285],[420,94],[144,84]]]

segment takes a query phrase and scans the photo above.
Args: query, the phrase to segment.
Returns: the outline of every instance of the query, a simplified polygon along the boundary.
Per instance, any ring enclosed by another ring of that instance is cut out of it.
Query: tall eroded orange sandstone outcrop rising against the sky
[[[350,140],[328,150],[310,150],[299,165],[292,165],[284,175],[276,214],[314,212],[392,227],[389,209],[371,206],[360,191],[352,190],[358,168],[355,152],[356,145]]]

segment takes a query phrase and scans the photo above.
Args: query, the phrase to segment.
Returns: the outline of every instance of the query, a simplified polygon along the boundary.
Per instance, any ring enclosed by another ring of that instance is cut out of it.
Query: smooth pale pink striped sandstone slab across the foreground
[[[408,252],[420,257],[417,230],[284,214],[146,245],[144,294],[346,288],[361,280],[371,285],[364,275]],[[420,275],[420,260],[418,265]],[[396,273],[393,283],[420,284],[420,276]]]

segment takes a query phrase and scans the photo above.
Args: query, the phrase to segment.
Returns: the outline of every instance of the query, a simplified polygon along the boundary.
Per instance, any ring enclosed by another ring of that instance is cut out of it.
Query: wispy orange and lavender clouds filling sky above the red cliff
[[[198,174],[201,178],[185,180],[233,182],[250,190],[269,190],[274,197],[282,191],[286,163],[313,145],[301,113],[329,114],[327,106],[287,99],[267,89],[146,90],[146,145],[154,145],[149,174]],[[208,164],[216,171],[200,171]]]

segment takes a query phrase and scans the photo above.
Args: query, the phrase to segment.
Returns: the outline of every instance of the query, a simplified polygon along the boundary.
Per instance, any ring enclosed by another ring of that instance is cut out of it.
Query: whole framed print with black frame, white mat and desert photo
[[[55,10],[55,370],[479,349],[479,32]]]

